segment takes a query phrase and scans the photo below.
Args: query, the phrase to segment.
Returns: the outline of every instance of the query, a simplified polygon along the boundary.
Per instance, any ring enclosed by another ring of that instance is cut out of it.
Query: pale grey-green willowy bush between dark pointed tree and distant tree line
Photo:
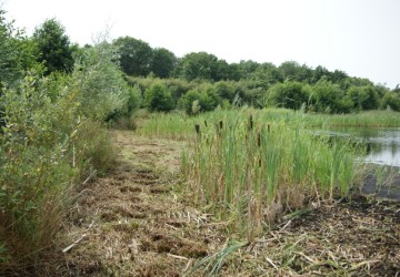
[[[81,91],[80,103],[83,113],[99,121],[130,115],[131,109],[137,106],[136,92],[131,92],[128,83],[119,70],[117,49],[102,41],[83,49],[82,61],[72,72],[76,90]],[[128,103],[130,102],[130,107]]]

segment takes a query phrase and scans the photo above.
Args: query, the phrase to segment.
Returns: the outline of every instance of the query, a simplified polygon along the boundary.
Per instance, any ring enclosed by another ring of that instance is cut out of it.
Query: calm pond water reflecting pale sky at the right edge
[[[367,155],[360,157],[363,162],[400,167],[399,127],[331,127],[318,133],[364,143]]]

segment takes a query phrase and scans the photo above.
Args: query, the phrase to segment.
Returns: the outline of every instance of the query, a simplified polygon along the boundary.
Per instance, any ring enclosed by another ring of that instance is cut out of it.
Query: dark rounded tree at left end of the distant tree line
[[[119,61],[124,73],[134,76],[146,76],[150,73],[153,52],[147,42],[130,37],[123,37],[118,38],[113,44],[119,48]],[[167,59],[168,53],[161,51],[158,53],[158,57],[160,59]],[[168,69],[168,61],[160,61],[160,63]],[[156,63],[153,63],[153,65],[157,68]],[[164,71],[166,68],[157,68],[156,70],[160,70],[161,72]]]

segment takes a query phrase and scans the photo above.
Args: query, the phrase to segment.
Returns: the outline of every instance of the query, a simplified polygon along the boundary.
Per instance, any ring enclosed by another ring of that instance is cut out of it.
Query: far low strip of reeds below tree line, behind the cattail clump
[[[216,119],[232,117],[237,114],[249,116],[263,122],[283,122],[290,125],[301,125],[308,129],[324,129],[330,126],[371,126],[371,127],[399,127],[400,113],[392,111],[370,111],[358,114],[311,114],[303,111],[269,107],[257,110],[244,107],[241,110],[217,110],[197,116],[188,116],[184,113],[151,113],[138,116],[138,135],[148,137],[162,137],[172,140],[191,140],[193,125],[206,125]]]

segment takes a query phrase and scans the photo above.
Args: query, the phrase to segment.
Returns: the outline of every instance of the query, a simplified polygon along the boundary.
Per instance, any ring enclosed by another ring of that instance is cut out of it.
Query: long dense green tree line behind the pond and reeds
[[[247,104],[281,106],[318,113],[352,113],[390,109],[400,111],[400,88],[389,90],[366,78],[340,70],[314,69],[287,61],[228,63],[207,52],[177,58],[163,48],[130,37],[113,41],[121,70],[143,95],[151,111],[181,109],[189,114],[217,106]]]

